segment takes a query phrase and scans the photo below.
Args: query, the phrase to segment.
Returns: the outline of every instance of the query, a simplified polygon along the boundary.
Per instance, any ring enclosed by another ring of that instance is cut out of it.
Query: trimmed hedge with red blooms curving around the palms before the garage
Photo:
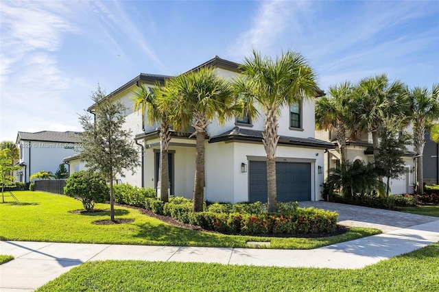
[[[159,205],[160,208],[157,208]],[[163,209],[162,209],[163,206]],[[146,199],[145,208],[170,216],[182,223],[201,226],[206,230],[234,234],[309,234],[334,232],[337,228],[336,212],[315,208],[299,208],[297,202],[278,203],[278,212],[263,212],[263,204],[240,203],[209,205],[204,212],[192,212],[192,201],[183,197],[170,198],[164,203]],[[206,209],[206,208],[204,208]],[[163,213],[160,211],[163,210]],[[240,210],[241,212],[236,212]]]

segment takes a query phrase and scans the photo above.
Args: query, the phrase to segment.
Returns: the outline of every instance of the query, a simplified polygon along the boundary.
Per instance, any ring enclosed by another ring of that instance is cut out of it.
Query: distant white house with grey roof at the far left
[[[19,132],[16,144],[22,167],[17,173],[18,182],[29,182],[29,176],[38,171],[55,173],[64,157],[76,154],[81,146],[80,133],[53,131]]]

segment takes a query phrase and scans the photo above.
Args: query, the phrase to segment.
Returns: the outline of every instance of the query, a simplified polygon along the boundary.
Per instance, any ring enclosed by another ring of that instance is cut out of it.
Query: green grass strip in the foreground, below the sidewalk
[[[439,243],[363,269],[88,262],[44,291],[439,291]]]

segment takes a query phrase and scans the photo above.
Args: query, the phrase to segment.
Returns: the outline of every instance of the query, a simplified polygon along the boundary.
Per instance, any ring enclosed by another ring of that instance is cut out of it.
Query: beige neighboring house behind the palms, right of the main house
[[[412,133],[412,127],[407,127],[407,131]],[[335,142],[337,140],[336,133],[334,131],[316,131],[316,137],[324,140]],[[346,154],[346,160],[354,162],[355,160],[361,160],[364,163],[373,162],[373,144],[372,144],[372,133],[364,133],[357,137],[355,141],[346,137],[346,147],[344,153]],[[336,143],[334,143],[336,145]],[[414,162],[414,156],[416,153],[413,151],[413,146],[408,145],[407,151],[403,156],[405,163],[405,174],[401,175],[398,179],[390,180],[390,193],[405,194],[414,193],[415,188],[415,173],[414,168],[416,164]],[[340,160],[340,150],[336,145],[336,149],[331,149],[325,154],[324,167],[326,169],[324,177],[327,178],[329,169],[335,168],[335,164]],[[384,182],[386,181],[383,179]]]

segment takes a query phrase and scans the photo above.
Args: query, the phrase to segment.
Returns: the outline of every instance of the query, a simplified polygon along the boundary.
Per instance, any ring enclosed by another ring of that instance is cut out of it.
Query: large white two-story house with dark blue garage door
[[[215,58],[195,67],[215,68],[219,76],[231,79],[239,74],[239,64]],[[140,84],[152,87],[163,84],[169,76],[143,74],[108,95],[119,100],[129,110],[124,127],[132,130],[139,145],[142,166],[135,175],[117,178],[137,186],[156,188],[160,141],[157,126],[147,125],[140,112],[134,112],[132,96]],[[93,112],[94,106],[88,108]],[[267,201],[265,150],[262,144],[264,117],[248,117],[208,127],[205,149],[204,199],[217,202]],[[278,134],[281,136],[276,151],[278,201],[307,201],[322,199],[324,181],[324,152],[333,149],[333,143],[315,138],[314,101],[295,104],[281,110]],[[195,175],[195,138],[172,132],[169,143],[169,193],[193,197]],[[143,149],[143,151],[141,151]]]

